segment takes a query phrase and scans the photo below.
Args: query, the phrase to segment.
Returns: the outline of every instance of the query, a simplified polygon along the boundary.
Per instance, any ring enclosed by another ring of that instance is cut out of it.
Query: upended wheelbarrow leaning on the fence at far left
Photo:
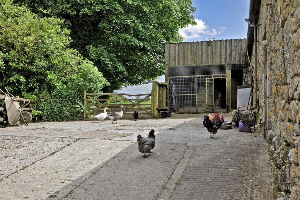
[[[30,103],[29,99],[19,99],[10,94],[6,88],[6,93],[0,89],[4,94],[4,105],[6,107],[7,119],[11,125],[19,124],[19,120],[28,126],[28,122],[32,120],[30,112],[24,112],[23,108]],[[20,105],[21,103],[21,105]]]

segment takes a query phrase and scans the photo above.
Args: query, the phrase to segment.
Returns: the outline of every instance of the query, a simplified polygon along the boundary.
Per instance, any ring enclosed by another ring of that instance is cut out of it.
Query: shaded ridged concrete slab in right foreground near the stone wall
[[[244,199],[249,147],[199,145],[171,199]]]

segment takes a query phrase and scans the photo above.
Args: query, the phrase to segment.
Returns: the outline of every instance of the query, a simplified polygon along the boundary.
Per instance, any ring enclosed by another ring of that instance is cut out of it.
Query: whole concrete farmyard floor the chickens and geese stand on
[[[203,115],[2,128],[0,199],[270,199],[265,139],[237,128],[211,139]],[[143,158],[137,135],[151,128]]]

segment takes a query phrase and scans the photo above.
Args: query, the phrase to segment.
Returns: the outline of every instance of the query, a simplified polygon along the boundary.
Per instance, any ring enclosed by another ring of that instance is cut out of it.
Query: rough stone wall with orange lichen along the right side
[[[258,112],[263,119],[267,67],[266,137],[274,191],[287,199],[300,199],[300,0],[262,0],[258,24]],[[267,40],[266,46],[263,40]]]

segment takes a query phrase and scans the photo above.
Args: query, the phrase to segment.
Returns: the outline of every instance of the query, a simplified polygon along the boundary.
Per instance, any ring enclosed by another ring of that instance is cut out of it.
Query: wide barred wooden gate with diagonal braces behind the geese
[[[125,96],[146,97],[130,99]],[[88,116],[104,112],[105,107],[109,108],[108,113],[119,111],[121,105],[125,107],[124,115],[133,115],[134,110],[151,115],[150,97],[151,94],[86,93],[83,91],[84,120],[95,120]]]

